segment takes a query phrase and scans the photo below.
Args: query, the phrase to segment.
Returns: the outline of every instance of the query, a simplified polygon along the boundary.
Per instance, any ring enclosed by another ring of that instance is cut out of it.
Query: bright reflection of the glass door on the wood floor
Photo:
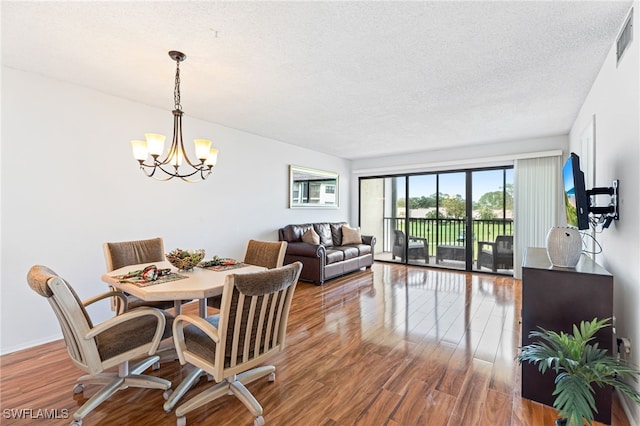
[[[384,335],[390,346],[430,341],[455,348],[467,360],[513,362],[518,343],[513,278],[386,264],[372,271],[351,293],[359,298],[362,338],[378,341]]]

